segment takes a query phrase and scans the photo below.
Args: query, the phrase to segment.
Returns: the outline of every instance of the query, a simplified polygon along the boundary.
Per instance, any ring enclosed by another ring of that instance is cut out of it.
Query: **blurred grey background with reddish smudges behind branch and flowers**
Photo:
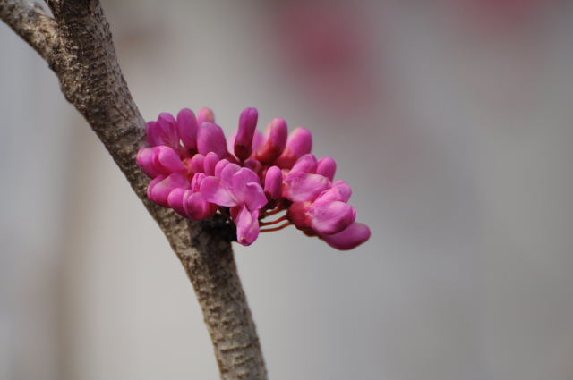
[[[103,0],[147,120],[314,134],[372,239],[235,256],[274,379],[573,378],[573,4]],[[0,378],[218,378],[192,286],[0,25]]]

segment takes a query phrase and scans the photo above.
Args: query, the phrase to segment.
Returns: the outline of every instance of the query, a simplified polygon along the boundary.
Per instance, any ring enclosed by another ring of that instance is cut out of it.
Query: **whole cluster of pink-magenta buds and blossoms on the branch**
[[[245,109],[227,147],[209,108],[197,116],[187,108],[176,118],[159,114],[147,123],[149,147],[137,155],[152,178],[148,197],[194,220],[227,215],[243,245],[290,224],[336,249],[367,241],[370,229],[355,222],[355,207],[347,203],[350,186],[334,181],[336,162],[311,154],[311,132],[298,127],[288,135],[286,122],[275,118],[263,134],[257,119],[255,108]]]

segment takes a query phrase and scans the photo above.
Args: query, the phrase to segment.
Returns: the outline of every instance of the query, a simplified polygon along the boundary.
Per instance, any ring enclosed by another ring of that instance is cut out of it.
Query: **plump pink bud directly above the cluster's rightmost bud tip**
[[[321,235],[341,232],[356,219],[355,207],[344,202],[315,202],[309,209],[312,229]]]

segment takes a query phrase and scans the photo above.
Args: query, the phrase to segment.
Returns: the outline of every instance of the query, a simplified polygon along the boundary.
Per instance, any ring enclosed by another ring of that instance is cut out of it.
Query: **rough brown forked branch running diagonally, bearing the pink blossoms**
[[[60,80],[64,97],[90,123],[181,260],[201,305],[220,375],[266,378],[261,345],[236,272],[233,230],[221,218],[190,222],[146,197],[149,179],[135,163],[145,122],[117,63],[98,0],[47,0],[54,18],[27,1],[0,0],[0,18]]]

